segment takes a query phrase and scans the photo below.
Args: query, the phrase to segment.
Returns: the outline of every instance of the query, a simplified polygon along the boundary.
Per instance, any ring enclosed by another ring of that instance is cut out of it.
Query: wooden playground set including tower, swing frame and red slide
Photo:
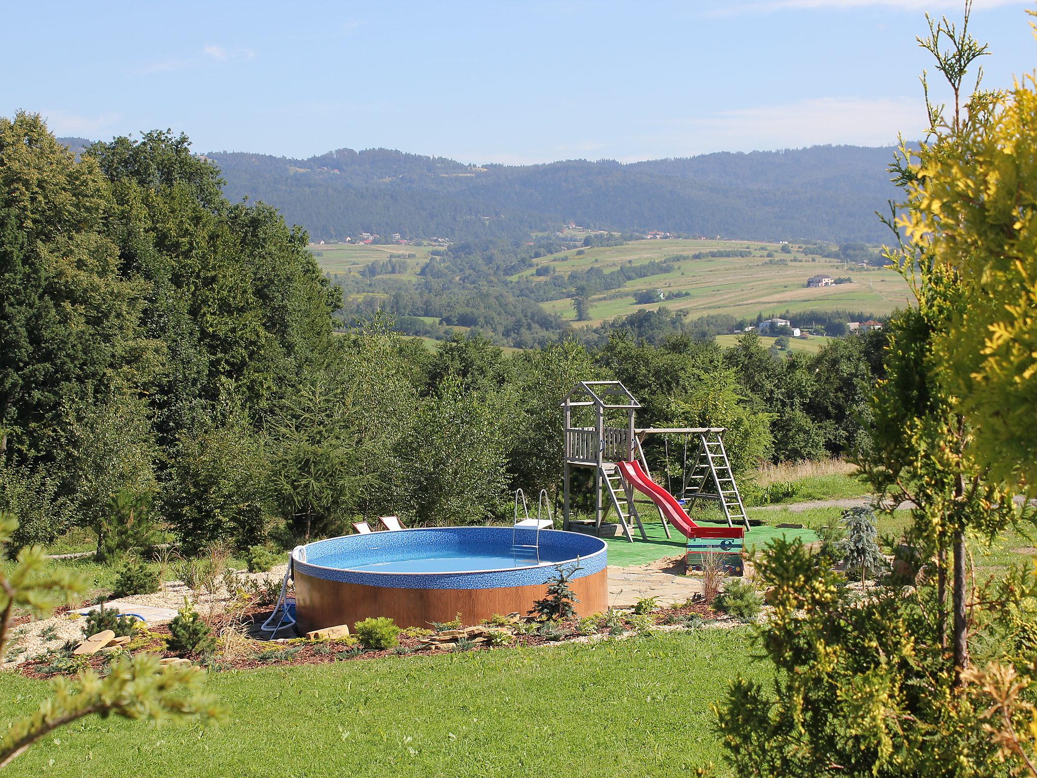
[[[639,504],[646,503],[637,499],[640,493],[658,510],[667,537],[673,527],[688,538],[689,552],[733,553],[740,550],[749,520],[724,447],[725,427],[638,427],[636,413],[640,408],[641,404],[619,381],[581,381],[565,397],[562,402],[565,416],[564,529],[579,524],[592,525],[594,533],[600,534],[602,521],[614,511],[627,540],[634,541],[632,521],[641,537],[647,540],[638,509]],[[573,416],[580,415],[586,420],[588,412],[592,424],[573,426]],[[618,426],[618,423],[623,425]],[[643,448],[649,435],[684,436],[679,495],[652,479]],[[698,449],[694,465],[689,467],[686,444],[693,439]],[[578,522],[570,516],[570,480],[574,467],[594,471],[593,520]],[[727,526],[702,526],[693,521],[686,508],[698,500],[718,503]]]

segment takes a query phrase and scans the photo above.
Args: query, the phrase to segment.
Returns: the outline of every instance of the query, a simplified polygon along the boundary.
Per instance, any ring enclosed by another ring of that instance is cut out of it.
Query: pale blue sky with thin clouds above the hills
[[[10,2],[0,115],[196,150],[385,146],[463,162],[622,161],[922,128],[940,0]],[[1021,0],[976,0],[986,84],[1037,62]],[[12,62],[23,66],[10,67]]]

